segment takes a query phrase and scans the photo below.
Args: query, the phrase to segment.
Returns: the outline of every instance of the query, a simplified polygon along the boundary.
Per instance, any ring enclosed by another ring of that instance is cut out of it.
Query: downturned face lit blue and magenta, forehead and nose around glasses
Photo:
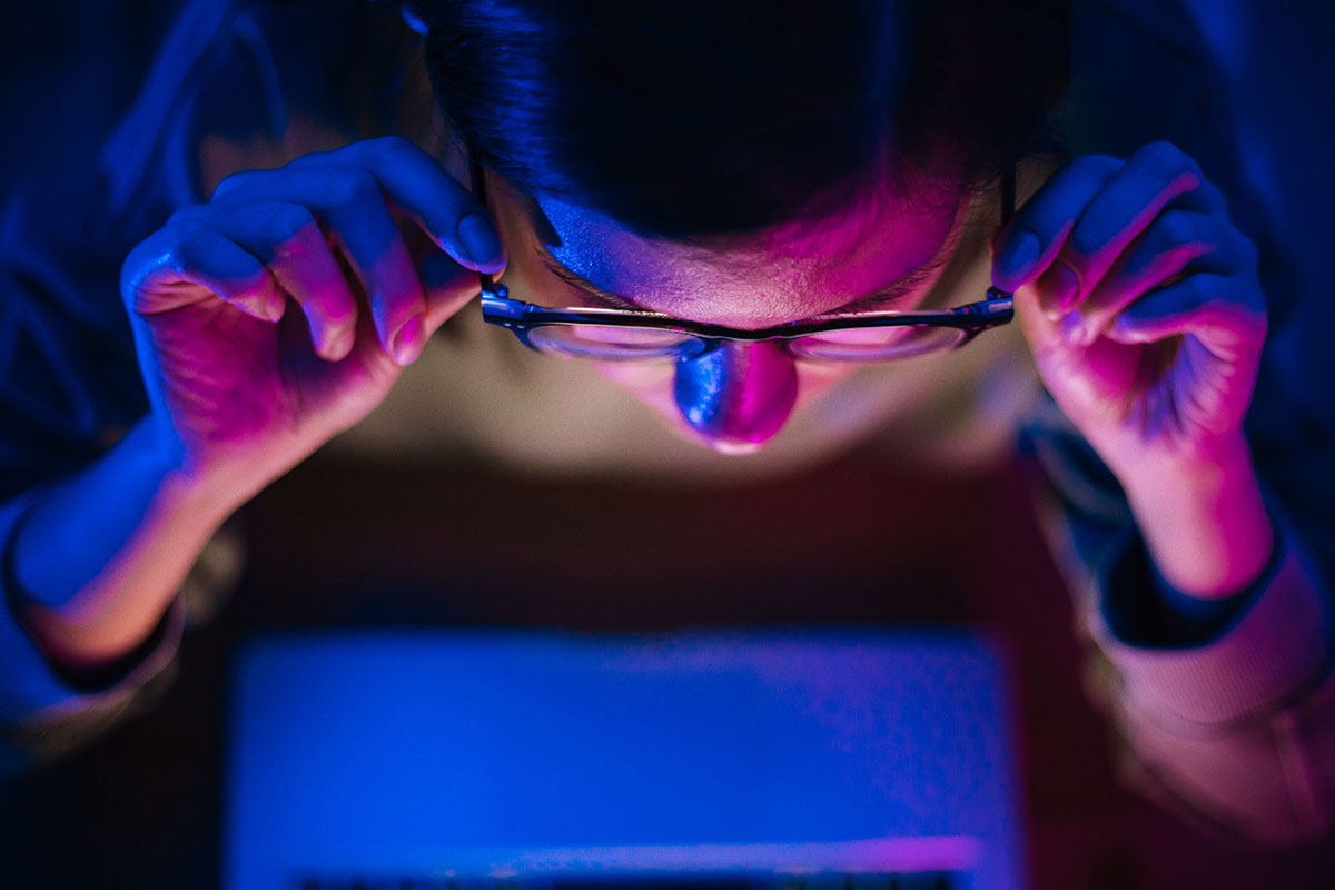
[[[736,328],[838,311],[909,310],[941,274],[960,230],[960,191],[888,185],[825,219],[714,239],[654,240],[489,179],[509,250],[503,280],[539,306],[643,308]],[[853,366],[796,360],[770,342],[728,343],[689,362],[595,362],[601,374],[689,438],[726,454],[762,447],[798,403]]]

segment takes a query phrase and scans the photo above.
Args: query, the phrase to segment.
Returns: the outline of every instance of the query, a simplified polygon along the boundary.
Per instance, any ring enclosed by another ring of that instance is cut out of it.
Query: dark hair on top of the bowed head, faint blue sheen
[[[885,172],[993,181],[1048,133],[1067,73],[1068,0],[411,7],[487,167],[674,239],[818,216]]]

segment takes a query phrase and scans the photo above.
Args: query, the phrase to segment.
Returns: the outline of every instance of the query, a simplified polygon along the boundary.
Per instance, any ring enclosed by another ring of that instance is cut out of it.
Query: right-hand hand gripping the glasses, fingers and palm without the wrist
[[[1208,463],[1242,435],[1266,339],[1256,248],[1176,147],[1072,160],[1001,234],[993,282],[1119,476]]]

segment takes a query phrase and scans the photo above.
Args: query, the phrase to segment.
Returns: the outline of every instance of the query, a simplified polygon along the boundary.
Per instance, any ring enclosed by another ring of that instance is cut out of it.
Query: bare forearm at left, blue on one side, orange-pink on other
[[[182,472],[151,419],[140,422],[97,463],[47,490],[9,542],[20,620],[71,666],[134,651],[236,506]]]

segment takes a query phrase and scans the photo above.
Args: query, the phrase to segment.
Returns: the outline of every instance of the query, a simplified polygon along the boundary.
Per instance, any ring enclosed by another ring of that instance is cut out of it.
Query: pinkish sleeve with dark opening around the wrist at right
[[[1084,622],[1116,671],[1107,701],[1140,783],[1219,831],[1282,845],[1335,822],[1335,624],[1315,556],[1271,514],[1272,567],[1206,639],[1175,643],[1161,628],[1173,622],[1156,618],[1133,528],[1097,566]]]

